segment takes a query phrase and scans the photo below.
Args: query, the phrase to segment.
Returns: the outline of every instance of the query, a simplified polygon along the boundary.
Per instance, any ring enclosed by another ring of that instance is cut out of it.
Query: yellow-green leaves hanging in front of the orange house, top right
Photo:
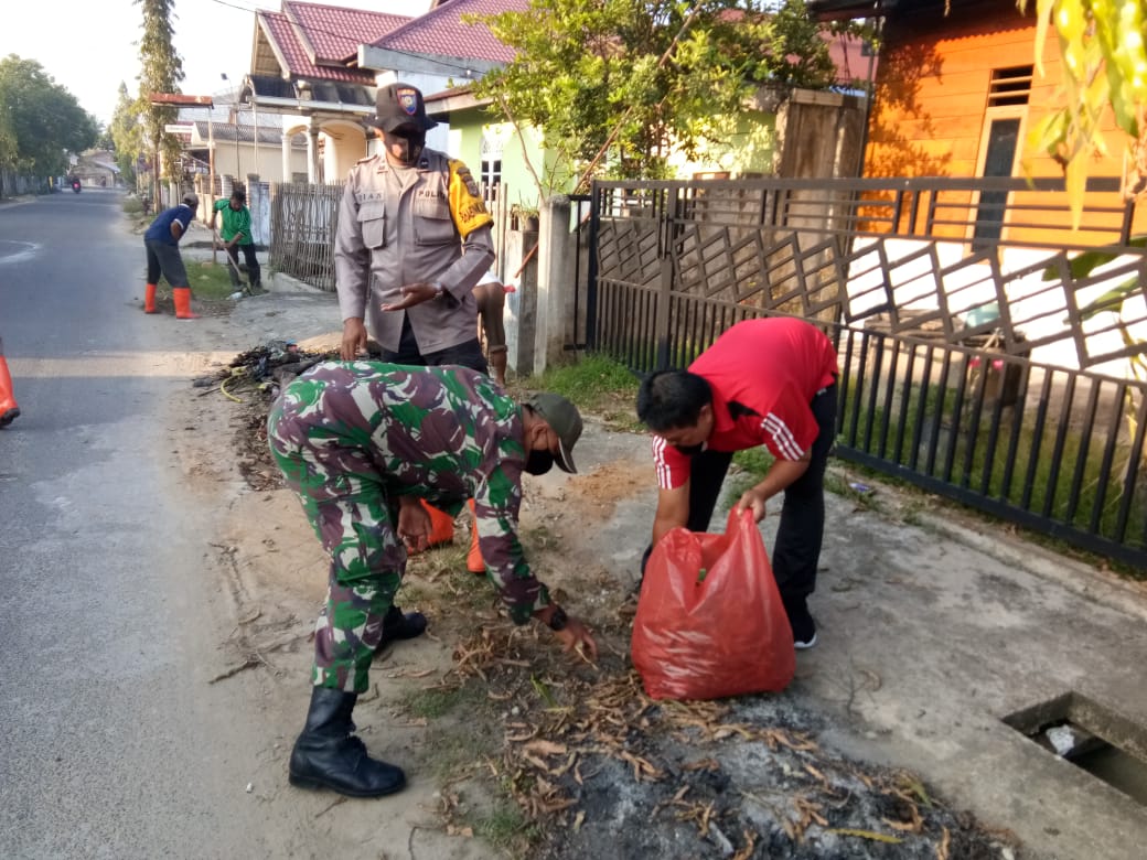
[[[1017,0],[1021,11],[1028,0]],[[1063,108],[1044,117],[1029,138],[1063,167],[1072,220],[1079,226],[1092,156],[1106,153],[1100,124],[1111,110],[1125,134],[1126,194],[1147,190],[1147,0],[1036,0],[1036,68],[1048,31],[1063,60]]]

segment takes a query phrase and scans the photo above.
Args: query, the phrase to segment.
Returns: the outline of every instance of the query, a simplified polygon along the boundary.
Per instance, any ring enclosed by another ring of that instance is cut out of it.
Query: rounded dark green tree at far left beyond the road
[[[91,147],[100,126],[34,60],[0,60],[0,166],[38,177],[68,170],[68,154]]]

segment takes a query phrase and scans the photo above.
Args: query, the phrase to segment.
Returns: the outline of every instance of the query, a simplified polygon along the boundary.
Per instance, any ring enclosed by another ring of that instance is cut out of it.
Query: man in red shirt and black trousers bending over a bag
[[[764,445],[774,461],[738,509],[759,523],[785,492],[772,564],[797,648],[817,642],[806,599],[817,585],[825,527],[825,466],[836,435],[836,350],[804,320],[775,316],[729,328],[688,370],[653,374],[638,417],[656,433],[653,541],[670,529],[705,531],[733,452]]]

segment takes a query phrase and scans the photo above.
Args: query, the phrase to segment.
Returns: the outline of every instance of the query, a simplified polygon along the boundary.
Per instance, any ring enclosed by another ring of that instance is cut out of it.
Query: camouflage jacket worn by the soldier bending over
[[[388,494],[413,494],[451,514],[473,498],[490,574],[516,624],[549,604],[517,539],[522,407],[493,381],[465,367],[326,361],[283,391],[276,433],[306,446],[331,437],[348,449],[349,474],[366,449]]]

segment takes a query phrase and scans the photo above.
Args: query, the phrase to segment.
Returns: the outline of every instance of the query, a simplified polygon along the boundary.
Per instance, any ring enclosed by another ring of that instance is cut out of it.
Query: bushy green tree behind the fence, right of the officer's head
[[[670,148],[719,142],[762,85],[830,86],[835,70],[799,0],[531,0],[479,18],[516,57],[475,85],[544,135],[545,194],[580,174],[658,178]],[[602,157],[604,155],[604,157]]]

